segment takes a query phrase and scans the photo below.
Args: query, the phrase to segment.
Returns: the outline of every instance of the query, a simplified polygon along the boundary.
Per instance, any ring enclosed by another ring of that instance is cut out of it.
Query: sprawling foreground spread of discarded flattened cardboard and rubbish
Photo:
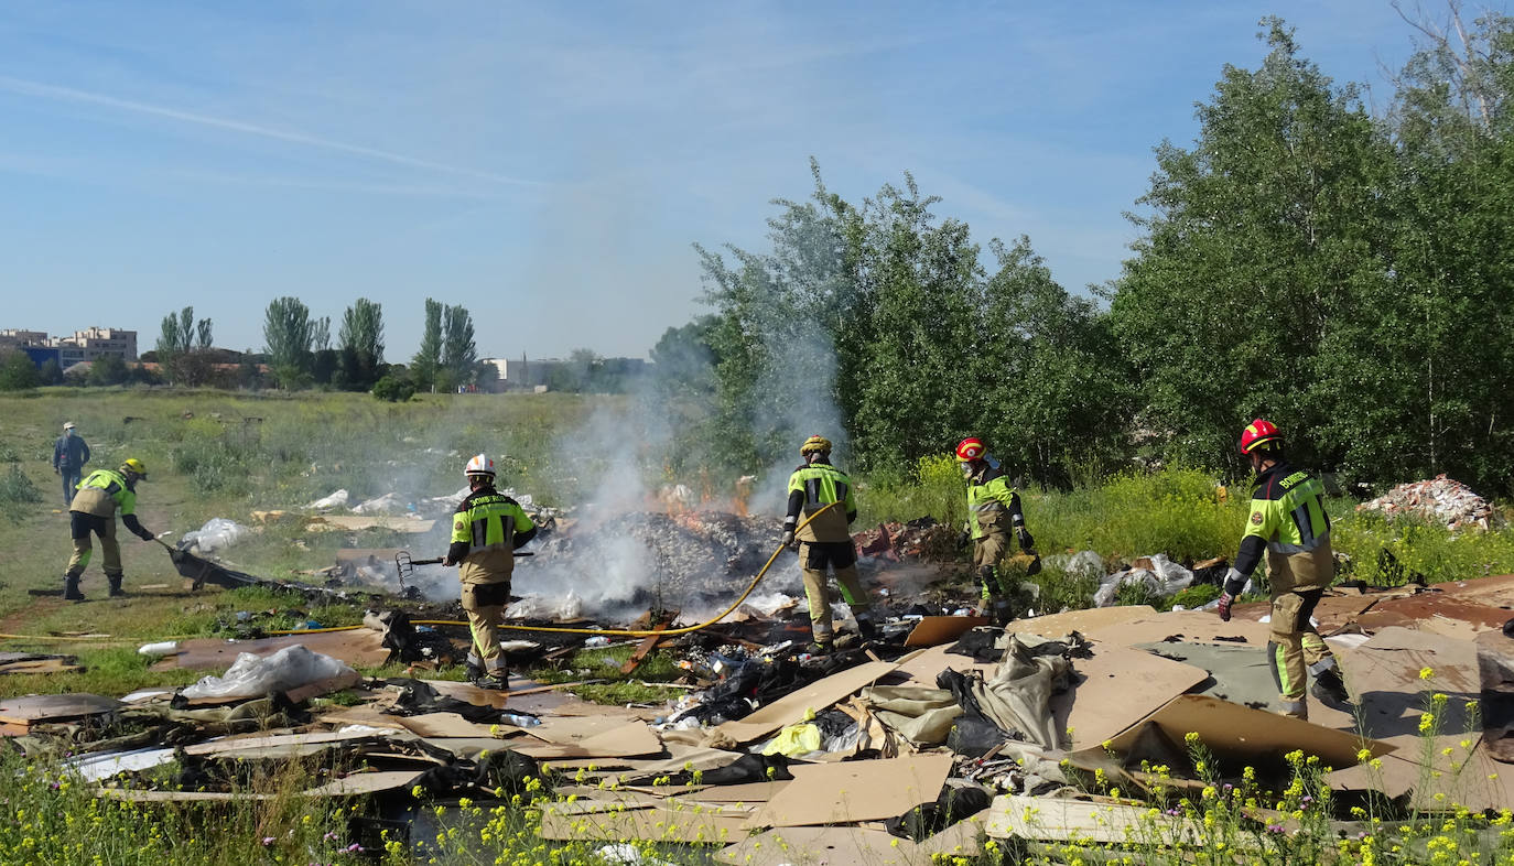
[[[1202,837],[1181,810],[1152,804],[1198,798],[1216,777],[1278,790],[1293,749],[1332,768],[1325,781],[1341,810],[1367,792],[1405,811],[1506,807],[1511,607],[1514,575],[1332,590],[1316,619],[1360,710],[1311,699],[1310,721],[1275,713],[1269,607],[1249,604],[1229,622],[1145,606],[1005,628],[907,615],[881,642],[813,659],[793,651],[802,627],[751,618],[669,639],[692,690],[625,709],[559,693],[572,684],[516,680],[506,704],[459,683],[363,678],[354,668],[413,653],[401,616],[374,616],[354,631],[156,646],[162,666],[224,674],[120,699],[0,701],[0,733],[29,754],[73,751],[101,796],[132,801],[247,796],[236,784],[247,762],[329,755],[306,795],[369,796],[356,833],[407,827],[427,804],[489,802],[495,789],[509,798],[539,777],[545,839],[724,840],[716,861],[759,866],[925,866],[981,852],[986,839],[1122,845],[1151,821],[1172,837]],[[660,642],[640,640],[628,668]],[[1431,748],[1426,689],[1447,695]],[[322,699],[335,690],[345,692],[341,706]],[[1195,736],[1208,766],[1195,765]],[[159,768],[171,762],[165,781]],[[1154,775],[1154,765],[1167,772]],[[1338,818],[1343,836],[1367,831]],[[1248,819],[1297,831],[1266,810]]]

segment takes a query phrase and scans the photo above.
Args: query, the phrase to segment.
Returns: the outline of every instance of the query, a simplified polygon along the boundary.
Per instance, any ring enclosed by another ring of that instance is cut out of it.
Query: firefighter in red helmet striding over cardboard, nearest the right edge
[[[1329,646],[1310,618],[1325,589],[1335,580],[1335,556],[1325,513],[1325,484],[1311,472],[1288,465],[1282,433],[1261,418],[1240,435],[1240,453],[1251,459],[1257,489],[1251,495],[1246,531],[1235,565],[1225,575],[1220,619],[1229,621],[1231,604],[1267,554],[1272,595],[1272,640],[1267,643],[1282,715],[1308,718],[1304,686],[1314,675],[1314,696],[1341,707],[1350,695]]]

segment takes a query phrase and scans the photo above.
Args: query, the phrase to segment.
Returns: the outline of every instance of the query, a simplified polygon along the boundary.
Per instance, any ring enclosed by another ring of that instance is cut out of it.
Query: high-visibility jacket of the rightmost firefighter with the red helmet
[[[1329,545],[1325,484],[1310,472],[1276,463],[1257,478],[1235,571],[1251,575],[1263,551],[1278,556],[1316,553]]]

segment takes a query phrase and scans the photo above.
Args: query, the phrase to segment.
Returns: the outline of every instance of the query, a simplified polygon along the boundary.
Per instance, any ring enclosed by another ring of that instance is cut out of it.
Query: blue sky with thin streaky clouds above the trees
[[[1266,14],[1379,103],[1411,51],[1385,0],[0,0],[0,327],[145,350],[194,304],[259,348],[274,297],[368,297],[406,360],[430,295],[483,356],[642,356],[704,309],[690,244],[762,247],[810,156],[851,198],[908,170],[1081,289]]]

